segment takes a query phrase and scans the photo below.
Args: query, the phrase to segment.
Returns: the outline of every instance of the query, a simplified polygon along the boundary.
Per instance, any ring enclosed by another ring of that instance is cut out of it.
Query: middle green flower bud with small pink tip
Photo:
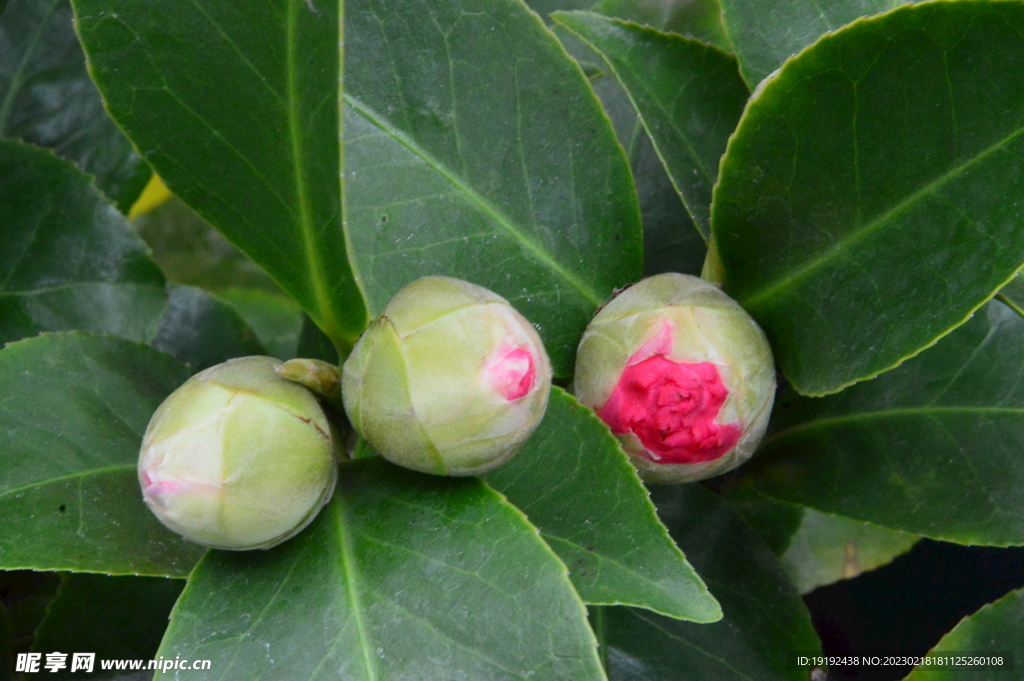
[[[447,276],[401,289],[355,344],[342,398],[381,456],[438,475],[508,461],[548,406],[551,363],[507,300]]]

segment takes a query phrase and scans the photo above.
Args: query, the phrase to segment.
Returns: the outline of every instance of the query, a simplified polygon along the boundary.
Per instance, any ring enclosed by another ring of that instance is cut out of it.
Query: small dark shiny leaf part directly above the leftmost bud
[[[153,341],[158,350],[199,371],[232,357],[266,354],[239,313],[222,300],[190,286],[170,284],[168,307]]]

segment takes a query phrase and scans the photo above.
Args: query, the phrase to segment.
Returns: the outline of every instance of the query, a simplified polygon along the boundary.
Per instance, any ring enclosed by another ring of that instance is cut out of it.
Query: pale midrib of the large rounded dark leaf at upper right
[[[823,250],[817,257],[805,262],[803,265],[791,270],[788,273],[784,274],[781,279],[777,280],[775,283],[768,283],[761,288],[760,291],[753,294],[748,294],[742,297],[741,302],[743,307],[748,309],[753,309],[759,305],[770,301],[771,298],[777,296],[778,294],[784,292],[799,285],[804,280],[808,279],[815,271],[821,269],[827,265],[833,260],[836,260],[847,251],[847,249],[853,247],[857,243],[863,241],[871,233],[883,229],[891,224],[891,220],[903,213],[913,208],[913,206],[922,201],[923,199],[932,196],[935,191],[950,182],[957,177],[959,177],[964,172],[971,169],[976,164],[982,162],[989,156],[995,154],[996,152],[1002,151],[1007,145],[1013,142],[1016,138],[1024,134],[1024,127],[1018,127],[1010,134],[997,139],[991,145],[985,147],[978,154],[975,154],[967,161],[961,163],[959,165],[951,167],[942,175],[936,177],[935,179],[925,183],[916,191],[913,191],[905,199],[894,205],[889,210],[885,211],[876,218],[872,218],[869,222],[865,223],[861,228],[851,231],[849,235],[843,239],[838,240],[829,248]]]

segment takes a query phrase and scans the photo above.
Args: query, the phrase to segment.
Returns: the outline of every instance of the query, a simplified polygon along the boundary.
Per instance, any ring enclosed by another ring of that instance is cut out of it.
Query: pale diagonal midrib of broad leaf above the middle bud
[[[541,261],[545,266],[547,266],[551,271],[559,276],[563,282],[568,284],[571,288],[578,291],[584,298],[594,305],[602,305],[605,302],[605,296],[599,294],[592,287],[585,284],[577,274],[564,266],[562,266],[546,249],[544,249],[540,244],[538,244],[529,236],[525,233],[520,227],[518,227],[507,215],[505,215],[497,206],[495,206],[485,197],[479,194],[476,189],[465,182],[461,177],[459,177],[454,172],[450,171],[444,164],[442,164],[438,159],[434,158],[433,155],[428,153],[420,144],[418,144],[414,139],[410,138],[409,135],[404,134],[402,131],[395,128],[390,124],[389,121],[379,116],[372,109],[364,104],[359,99],[350,93],[345,93],[343,96],[344,103],[352,108],[353,111],[357,112],[365,119],[370,121],[374,126],[382,130],[389,137],[394,139],[396,142],[404,146],[407,150],[412,152],[417,158],[426,163],[431,169],[433,169],[438,175],[443,177],[450,184],[457,188],[462,196],[468,199],[473,205],[475,205],[479,211],[487,215],[494,223],[499,225],[506,233],[512,237],[516,242],[518,242],[525,250],[529,251],[539,261]]]

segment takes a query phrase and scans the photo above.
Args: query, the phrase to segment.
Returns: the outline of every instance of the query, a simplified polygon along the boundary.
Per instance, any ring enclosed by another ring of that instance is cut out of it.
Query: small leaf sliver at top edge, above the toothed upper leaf
[[[726,52],[732,51],[722,26],[720,0],[601,0],[591,11],[695,38]]]

